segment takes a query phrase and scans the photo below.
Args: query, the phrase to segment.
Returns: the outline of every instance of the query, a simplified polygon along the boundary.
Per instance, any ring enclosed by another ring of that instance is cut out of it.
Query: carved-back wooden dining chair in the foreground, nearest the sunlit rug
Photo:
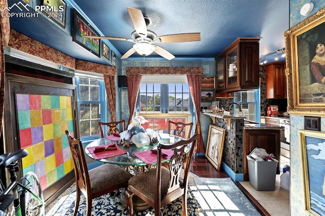
[[[160,208],[171,203],[182,196],[183,216],[187,216],[187,185],[188,173],[194,146],[197,143],[198,134],[194,134],[189,139],[157,147],[157,167],[146,172],[139,173],[128,181],[126,190],[127,209],[130,216],[133,216],[134,195],[141,198],[154,208],[155,215],[160,215]],[[174,155],[170,158],[169,166],[161,165],[161,150],[174,150]],[[189,151],[189,154],[187,152]],[[186,164],[184,166],[184,164]],[[184,168],[184,176],[181,179],[181,170]]]

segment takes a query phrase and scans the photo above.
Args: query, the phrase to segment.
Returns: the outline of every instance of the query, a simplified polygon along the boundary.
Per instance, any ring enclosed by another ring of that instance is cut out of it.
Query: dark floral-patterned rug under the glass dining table
[[[197,175],[189,174],[189,186],[194,185],[193,178]],[[189,187],[189,188],[190,188]],[[199,202],[194,198],[192,192],[188,191],[187,196],[187,212],[189,216],[203,215],[202,208]],[[55,199],[47,208],[45,213],[48,216],[52,215],[73,215],[76,198],[76,185],[73,184],[69,189]],[[164,208],[160,209],[161,215],[182,215],[182,199],[178,198],[174,202],[168,204]],[[77,215],[86,214],[86,199],[82,195],[78,208]],[[109,194],[103,195],[92,200],[92,212],[91,215],[128,215],[127,209],[120,203],[119,196],[110,196]],[[136,211],[135,215],[154,215],[153,208],[149,208],[143,211]]]

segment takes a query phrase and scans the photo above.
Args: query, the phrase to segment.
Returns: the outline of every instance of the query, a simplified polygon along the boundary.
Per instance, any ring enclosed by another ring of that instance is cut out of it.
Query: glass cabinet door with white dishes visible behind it
[[[239,64],[237,60],[238,46],[226,53],[226,88],[239,86]]]

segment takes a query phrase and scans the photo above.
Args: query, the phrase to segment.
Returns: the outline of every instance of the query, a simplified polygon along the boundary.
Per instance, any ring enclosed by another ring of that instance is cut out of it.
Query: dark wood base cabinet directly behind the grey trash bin
[[[243,142],[243,173],[244,181],[249,181],[248,163],[249,155],[256,147],[265,149],[268,154],[273,154],[280,162],[280,129],[244,129]],[[280,163],[277,165],[277,174],[280,174]]]

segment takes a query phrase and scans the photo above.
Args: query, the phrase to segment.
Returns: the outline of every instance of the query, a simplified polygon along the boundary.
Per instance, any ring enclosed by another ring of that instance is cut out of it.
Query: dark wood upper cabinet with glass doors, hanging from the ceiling
[[[258,88],[260,39],[238,38],[215,58],[216,79],[220,80],[216,95]]]

